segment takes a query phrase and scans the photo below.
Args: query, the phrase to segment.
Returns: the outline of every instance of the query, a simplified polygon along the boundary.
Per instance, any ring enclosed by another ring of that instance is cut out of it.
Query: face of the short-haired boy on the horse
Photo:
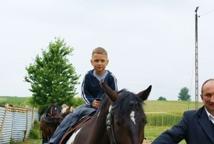
[[[91,58],[91,64],[96,74],[103,74],[108,64],[108,57],[105,54],[94,53]]]

